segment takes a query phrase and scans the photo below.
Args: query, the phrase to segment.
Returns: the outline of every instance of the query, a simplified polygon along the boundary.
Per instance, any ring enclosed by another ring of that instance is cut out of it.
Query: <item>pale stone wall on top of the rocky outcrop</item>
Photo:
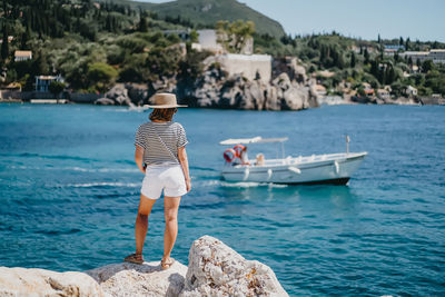
[[[254,80],[258,72],[261,81],[270,81],[271,57],[269,55],[226,53],[216,56],[216,61],[229,76],[241,75],[248,80]]]

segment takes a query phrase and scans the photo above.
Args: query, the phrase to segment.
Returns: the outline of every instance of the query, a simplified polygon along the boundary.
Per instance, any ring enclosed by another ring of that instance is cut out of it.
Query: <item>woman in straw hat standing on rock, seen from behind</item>
[[[179,106],[172,93],[154,96],[154,111],[149,122],[142,123],[136,133],[135,161],[146,176],[140,190],[140,201],[135,225],[136,253],[126,261],[142,264],[144,241],[148,230],[148,217],[164,190],[166,229],[161,269],[171,267],[170,257],[178,235],[178,208],[182,195],[190,190],[190,176],[186,154],[186,131],[171,119]]]

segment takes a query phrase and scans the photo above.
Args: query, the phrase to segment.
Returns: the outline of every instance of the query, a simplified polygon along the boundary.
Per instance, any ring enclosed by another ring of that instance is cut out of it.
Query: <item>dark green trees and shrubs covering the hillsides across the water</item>
[[[394,96],[403,96],[408,85],[416,87],[421,96],[445,95],[443,65],[431,61],[416,65],[399,55],[383,52],[385,44],[403,43],[409,50],[428,50],[445,48],[444,43],[408,38],[365,41],[336,32],[291,37],[283,34],[283,29],[268,33],[260,28],[271,20],[235,0],[184,0],[164,4],[125,0],[6,0],[0,8],[1,83],[18,82],[24,90],[31,90],[34,76],[59,73],[70,89],[86,92],[103,92],[116,81],[150,85],[175,78],[190,82],[201,75],[200,61],[209,53],[191,50],[196,31],[181,40],[166,30],[197,29],[206,20],[214,23],[230,20],[239,16],[229,13],[235,8],[240,13],[249,11],[258,17],[254,20],[255,52],[277,59],[298,57],[330,93],[340,93],[345,82],[362,93],[363,82],[367,82],[375,89],[390,86]],[[174,10],[181,12],[179,18],[172,17]],[[32,50],[33,57],[14,62],[14,50]],[[323,70],[330,75],[320,75]]]

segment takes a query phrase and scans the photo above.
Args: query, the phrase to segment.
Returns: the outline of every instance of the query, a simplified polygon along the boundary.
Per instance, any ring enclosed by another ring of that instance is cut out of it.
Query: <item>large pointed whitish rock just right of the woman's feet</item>
[[[246,260],[222,241],[202,236],[190,248],[186,287],[180,296],[288,295],[268,266]]]

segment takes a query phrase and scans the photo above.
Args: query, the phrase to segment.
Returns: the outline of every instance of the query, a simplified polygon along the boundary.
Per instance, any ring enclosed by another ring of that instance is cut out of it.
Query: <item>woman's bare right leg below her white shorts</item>
[[[178,235],[178,208],[180,197],[164,198],[166,231],[164,234],[164,256],[162,260],[168,261],[171,250],[175,246],[176,237]]]

